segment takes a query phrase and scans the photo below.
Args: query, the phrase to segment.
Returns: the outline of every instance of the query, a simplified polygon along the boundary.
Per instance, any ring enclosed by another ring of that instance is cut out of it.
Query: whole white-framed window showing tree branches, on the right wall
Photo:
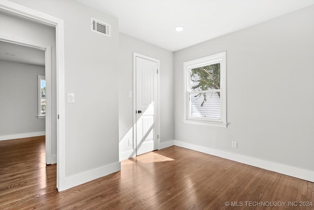
[[[227,127],[226,52],[186,61],[183,67],[184,122]]]

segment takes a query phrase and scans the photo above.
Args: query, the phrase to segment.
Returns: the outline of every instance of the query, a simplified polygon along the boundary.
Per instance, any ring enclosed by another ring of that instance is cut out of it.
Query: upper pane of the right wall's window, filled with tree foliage
[[[191,69],[191,91],[220,89],[220,63]]]

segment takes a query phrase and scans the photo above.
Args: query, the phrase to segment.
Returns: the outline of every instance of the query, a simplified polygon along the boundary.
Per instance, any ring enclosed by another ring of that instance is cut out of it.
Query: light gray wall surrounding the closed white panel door
[[[160,142],[174,140],[173,106],[173,53],[120,33],[119,39],[119,145],[120,160],[134,155],[129,139],[132,138],[133,98],[133,53],[139,53],[160,61]]]

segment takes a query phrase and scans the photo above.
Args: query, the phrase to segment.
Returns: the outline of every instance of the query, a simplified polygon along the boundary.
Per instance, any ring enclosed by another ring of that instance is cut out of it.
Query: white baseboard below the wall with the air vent
[[[121,164],[120,162],[117,162],[90,171],[86,171],[71,177],[67,177],[65,178],[65,186],[63,190],[78,186],[91,180],[96,180],[98,178],[104,177],[114,172],[118,172],[120,170]]]

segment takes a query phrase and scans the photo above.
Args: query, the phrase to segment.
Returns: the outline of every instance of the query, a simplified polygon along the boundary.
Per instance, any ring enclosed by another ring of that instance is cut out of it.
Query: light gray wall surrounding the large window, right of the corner
[[[313,10],[176,52],[175,139],[314,171]],[[228,128],[183,123],[183,62],[223,51]]]

